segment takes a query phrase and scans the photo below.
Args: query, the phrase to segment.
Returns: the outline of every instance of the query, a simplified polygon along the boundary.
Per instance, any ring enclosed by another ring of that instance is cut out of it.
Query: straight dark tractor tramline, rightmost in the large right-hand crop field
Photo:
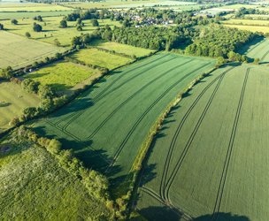
[[[246,75],[245,75],[245,78],[244,78],[244,81],[243,81],[242,92],[241,92],[241,95],[240,95],[240,100],[239,100],[237,110],[236,110],[236,115],[235,115],[235,118],[234,118],[234,126],[233,126],[233,130],[232,130],[232,133],[231,133],[228,149],[227,149],[227,156],[226,156],[225,164],[224,164],[223,171],[222,171],[222,174],[221,174],[221,178],[220,178],[220,182],[219,182],[219,190],[218,190],[218,194],[217,194],[217,198],[216,198],[216,202],[215,202],[215,206],[214,206],[214,210],[213,210],[211,220],[217,220],[218,217],[219,217],[219,209],[220,209],[220,205],[221,205],[221,201],[222,201],[222,195],[224,193],[225,183],[226,183],[226,180],[227,180],[228,167],[229,167],[229,164],[230,164],[232,151],[233,151],[233,148],[234,148],[234,138],[235,138],[235,134],[236,134],[236,130],[237,130],[238,121],[239,121],[239,118],[240,118],[240,113],[241,113],[241,109],[242,109],[242,102],[243,102],[243,97],[244,97],[244,94],[245,94],[247,81],[248,81],[248,78],[249,78],[249,73],[250,73],[250,68],[247,69],[247,72],[246,72]]]

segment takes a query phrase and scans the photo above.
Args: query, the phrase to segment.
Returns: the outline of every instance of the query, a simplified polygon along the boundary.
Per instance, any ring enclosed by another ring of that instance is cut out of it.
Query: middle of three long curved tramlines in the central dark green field
[[[165,77],[168,73],[170,73],[170,72],[173,72],[175,69],[177,69],[177,68],[179,68],[179,67],[181,67],[181,66],[183,66],[183,65],[187,65],[188,63],[190,63],[190,62],[192,62],[193,61],[193,59],[190,59],[190,60],[188,60],[187,62],[185,62],[185,63],[183,63],[183,64],[181,64],[181,65],[177,65],[177,66],[174,66],[173,68],[171,68],[170,70],[168,70],[168,71],[166,71],[166,72],[164,72],[164,73],[162,73],[161,74],[161,76],[158,76],[157,78],[155,78],[155,79],[153,79],[153,80],[150,80],[150,82],[148,82],[146,85],[144,85],[142,88],[140,88],[139,90],[137,90],[136,92],[135,92],[135,94],[133,94],[133,95],[131,95],[131,96],[129,96],[123,103],[120,103],[119,104],[119,106],[115,109],[115,110],[113,110],[112,112],[111,112],[111,114],[107,117],[107,118],[105,118],[104,119],[104,121],[99,125],[99,126],[97,126],[96,127],[96,130],[93,132],[93,133],[91,133],[88,137],[87,137],[87,139],[90,139],[90,138],[92,138],[103,126],[104,126],[104,124],[121,108],[121,107],[123,107],[126,103],[128,103],[129,101],[131,101],[134,97],[135,97],[135,95],[139,95],[145,88],[148,88],[153,82],[155,82],[155,81],[157,81],[157,80],[160,80],[161,78],[163,78],[163,77]]]

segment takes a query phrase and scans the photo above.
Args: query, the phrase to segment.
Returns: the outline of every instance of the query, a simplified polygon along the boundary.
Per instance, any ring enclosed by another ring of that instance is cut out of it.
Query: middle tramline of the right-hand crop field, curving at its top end
[[[204,110],[203,110],[202,115],[201,115],[200,118],[198,119],[198,121],[197,121],[197,123],[196,123],[196,126],[195,126],[193,132],[191,133],[191,135],[190,135],[190,137],[189,137],[189,139],[188,139],[188,142],[187,142],[185,148],[183,149],[183,152],[182,152],[182,154],[181,154],[181,156],[180,156],[178,162],[176,163],[175,167],[173,168],[173,171],[172,171],[171,176],[169,177],[169,179],[167,180],[167,183],[165,184],[165,195],[164,195],[164,198],[165,198],[165,201],[170,202],[172,205],[173,205],[173,203],[172,203],[171,200],[170,200],[170,197],[169,197],[169,191],[170,191],[170,188],[172,187],[173,180],[175,179],[176,174],[178,173],[178,171],[179,171],[180,168],[181,168],[181,164],[183,163],[185,157],[186,157],[187,154],[188,154],[188,149],[190,148],[191,143],[192,143],[192,141],[194,140],[194,138],[195,138],[195,136],[196,136],[196,133],[197,133],[199,127],[201,126],[201,124],[202,124],[202,122],[203,122],[203,120],[204,120],[204,117],[205,117],[207,111],[209,110],[209,108],[210,108],[210,106],[211,106],[211,103],[212,103],[212,101],[213,101],[215,95],[217,94],[217,92],[218,92],[218,90],[219,90],[219,86],[220,86],[222,80],[224,79],[226,73],[229,72],[229,71],[231,71],[233,68],[234,68],[234,67],[230,68],[229,70],[227,70],[226,72],[224,72],[224,73],[220,76],[216,88],[214,88],[214,91],[212,92],[211,97],[210,97],[208,103],[206,103],[206,106],[205,106],[205,108],[204,108]],[[176,135],[176,138],[175,138],[175,139],[177,139],[178,135],[179,135],[179,134]]]

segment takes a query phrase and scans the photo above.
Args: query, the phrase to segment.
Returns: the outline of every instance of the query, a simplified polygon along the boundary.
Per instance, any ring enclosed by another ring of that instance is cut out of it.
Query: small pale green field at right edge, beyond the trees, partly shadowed
[[[259,58],[261,64],[269,62],[269,40],[259,39],[257,42],[247,44],[239,51],[252,59]]]

